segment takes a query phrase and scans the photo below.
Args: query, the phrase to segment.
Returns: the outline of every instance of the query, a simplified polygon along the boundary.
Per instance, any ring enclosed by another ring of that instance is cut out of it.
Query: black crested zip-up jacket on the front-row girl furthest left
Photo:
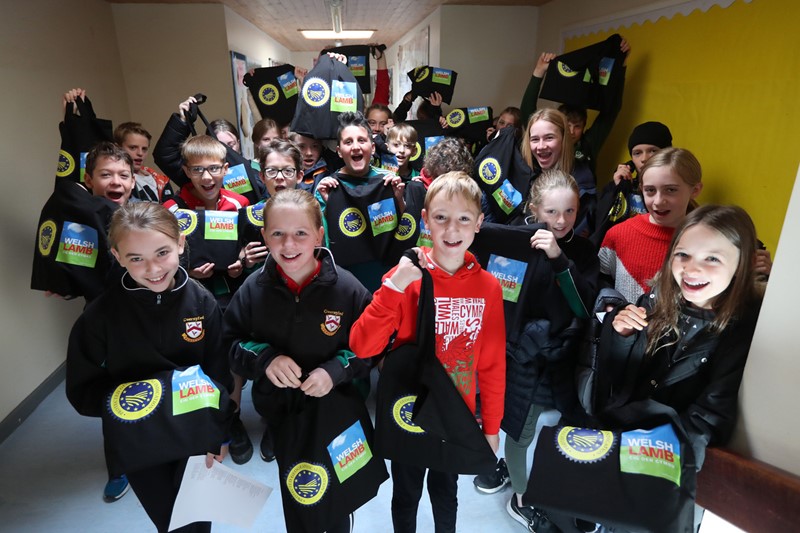
[[[75,322],[67,348],[67,398],[78,413],[100,416],[120,383],[199,364],[233,388],[214,297],[179,268],[175,288],[154,293],[127,273]]]

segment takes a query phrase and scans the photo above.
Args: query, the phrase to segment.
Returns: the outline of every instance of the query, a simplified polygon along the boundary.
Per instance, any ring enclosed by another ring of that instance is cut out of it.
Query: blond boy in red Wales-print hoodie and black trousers
[[[475,412],[476,374],[480,374],[483,432],[496,452],[505,395],[505,326],[500,285],[467,251],[480,231],[481,191],[463,172],[448,172],[431,184],[422,218],[432,248],[415,248],[419,263],[433,278],[436,302],[436,356]],[[372,303],[353,325],[350,347],[358,357],[417,338],[417,303],[422,272],[406,257],[390,270]],[[395,533],[416,530],[425,469],[392,462]],[[436,531],[456,530],[458,475],[430,470],[428,493]]]

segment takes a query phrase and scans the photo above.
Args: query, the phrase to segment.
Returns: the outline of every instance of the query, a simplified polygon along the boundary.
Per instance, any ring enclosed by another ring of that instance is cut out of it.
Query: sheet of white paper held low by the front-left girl
[[[216,461],[206,468],[204,455],[190,457],[169,529],[192,522],[222,522],[249,529],[271,493],[270,487]]]

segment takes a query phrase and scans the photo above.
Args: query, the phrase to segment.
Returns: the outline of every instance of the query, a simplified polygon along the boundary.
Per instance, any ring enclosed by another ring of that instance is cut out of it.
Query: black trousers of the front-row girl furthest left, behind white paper
[[[153,521],[159,533],[169,530],[172,507],[186,469],[186,461],[173,461],[128,474],[133,492]],[[210,533],[211,522],[194,522],[173,530],[173,533]]]

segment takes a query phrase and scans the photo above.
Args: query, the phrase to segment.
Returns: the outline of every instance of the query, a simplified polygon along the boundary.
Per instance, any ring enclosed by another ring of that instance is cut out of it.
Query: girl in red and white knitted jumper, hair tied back
[[[612,227],[600,246],[600,272],[629,301],[644,294],[658,272],[675,228],[703,190],[700,162],[688,150],[665,148],[642,167],[647,214]]]

